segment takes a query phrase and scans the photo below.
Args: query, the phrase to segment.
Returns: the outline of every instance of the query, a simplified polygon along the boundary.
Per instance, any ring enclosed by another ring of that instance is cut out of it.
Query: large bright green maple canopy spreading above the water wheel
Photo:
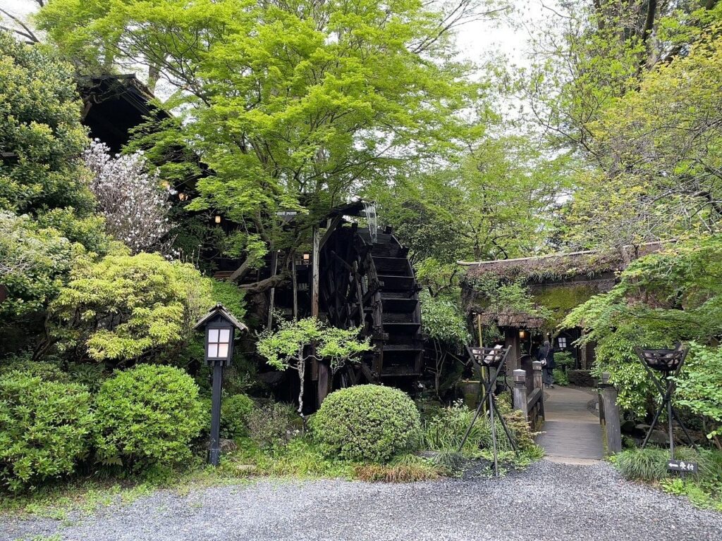
[[[484,105],[442,30],[457,16],[417,0],[53,0],[38,22],[86,73],[142,58],[184,89],[166,104],[181,120],[154,145],[177,141],[208,165],[213,175],[196,182],[188,208],[249,224],[256,234],[233,250],[255,263],[297,242],[278,211],[308,214],[308,234],[370,179],[461,146],[470,128],[460,113]]]

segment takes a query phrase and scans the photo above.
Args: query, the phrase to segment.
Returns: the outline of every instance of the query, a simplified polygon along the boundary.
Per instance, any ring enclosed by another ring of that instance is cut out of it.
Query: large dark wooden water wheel
[[[411,387],[423,370],[419,286],[390,229],[339,226],[319,258],[319,305],[334,327],[361,327],[373,352],[334,375],[333,387],[363,382]]]

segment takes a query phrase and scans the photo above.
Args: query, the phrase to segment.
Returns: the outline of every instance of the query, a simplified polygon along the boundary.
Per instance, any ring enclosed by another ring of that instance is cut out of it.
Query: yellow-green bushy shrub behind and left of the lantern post
[[[213,304],[212,281],[158,254],[83,260],[51,305],[52,333],[64,350],[97,361],[137,359],[175,346]]]

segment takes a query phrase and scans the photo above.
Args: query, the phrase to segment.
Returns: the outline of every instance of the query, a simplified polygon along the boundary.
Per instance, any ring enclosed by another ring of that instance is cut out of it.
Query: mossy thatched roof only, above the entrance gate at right
[[[620,250],[584,250],[532,258],[479,261],[459,261],[466,267],[462,281],[462,301],[469,312],[482,314],[484,325],[539,329],[555,327],[575,306],[589,297],[609,291],[617,281],[617,274],[633,260],[658,252],[662,242]],[[534,314],[515,312],[512,308],[489,313],[489,299],[475,288],[481,278],[500,282],[521,280],[529,287],[533,302],[552,313],[549,319]]]

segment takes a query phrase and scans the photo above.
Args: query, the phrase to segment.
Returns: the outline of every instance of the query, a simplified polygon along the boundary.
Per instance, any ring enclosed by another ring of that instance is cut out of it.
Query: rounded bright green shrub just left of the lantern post
[[[95,446],[108,465],[173,465],[191,457],[204,426],[198,387],[173,366],[142,364],[118,372],[95,400]]]

